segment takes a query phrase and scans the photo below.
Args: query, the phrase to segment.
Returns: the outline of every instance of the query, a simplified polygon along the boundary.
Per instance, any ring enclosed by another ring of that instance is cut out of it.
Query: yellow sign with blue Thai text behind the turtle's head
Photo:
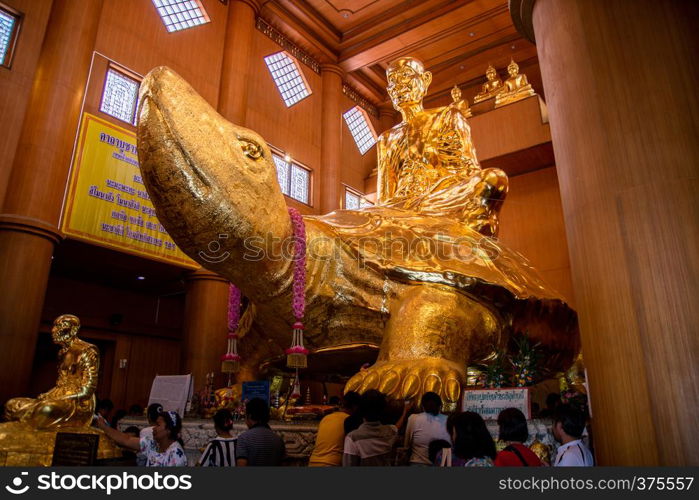
[[[141,178],[136,135],[83,114],[62,231],[75,239],[188,268],[160,224]]]

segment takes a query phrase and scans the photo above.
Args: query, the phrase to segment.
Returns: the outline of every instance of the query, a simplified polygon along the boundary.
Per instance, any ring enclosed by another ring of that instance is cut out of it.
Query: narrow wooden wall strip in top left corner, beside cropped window
[[[34,80],[34,72],[44,40],[51,0],[3,0],[9,7],[24,14],[10,69],[0,68],[0,206],[22,131],[21,124]],[[12,126],[10,126],[12,124]]]

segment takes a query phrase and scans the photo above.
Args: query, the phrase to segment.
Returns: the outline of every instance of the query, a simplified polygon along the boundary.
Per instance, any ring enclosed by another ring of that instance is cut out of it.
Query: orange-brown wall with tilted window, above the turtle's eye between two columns
[[[281,51],[282,48],[259,31],[254,33],[251,54],[250,89],[248,93],[247,123],[264,139],[311,168],[313,173],[313,200],[308,207],[287,199],[289,205],[302,213],[318,213],[320,203],[320,117],[322,112],[321,77],[308,66],[300,63],[312,94],[287,108],[277,90],[264,57]]]

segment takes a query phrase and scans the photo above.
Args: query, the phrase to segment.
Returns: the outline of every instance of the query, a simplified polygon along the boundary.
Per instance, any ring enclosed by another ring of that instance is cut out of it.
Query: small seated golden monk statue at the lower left
[[[56,386],[36,399],[14,398],[5,405],[5,419],[19,420],[35,429],[85,427],[95,411],[99,370],[97,348],[77,337],[80,320],[72,314],[56,318],[51,329],[58,354]]]

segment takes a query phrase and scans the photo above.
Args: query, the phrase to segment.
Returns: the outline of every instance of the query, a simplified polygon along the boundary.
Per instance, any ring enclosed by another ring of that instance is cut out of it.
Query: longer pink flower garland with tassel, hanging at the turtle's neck
[[[286,350],[286,365],[289,368],[308,366],[308,349],[303,346],[303,315],[306,309],[306,226],[303,217],[295,208],[289,207],[289,217],[294,232],[294,284],[291,308],[294,313],[291,347]],[[298,375],[296,377],[298,380]]]

